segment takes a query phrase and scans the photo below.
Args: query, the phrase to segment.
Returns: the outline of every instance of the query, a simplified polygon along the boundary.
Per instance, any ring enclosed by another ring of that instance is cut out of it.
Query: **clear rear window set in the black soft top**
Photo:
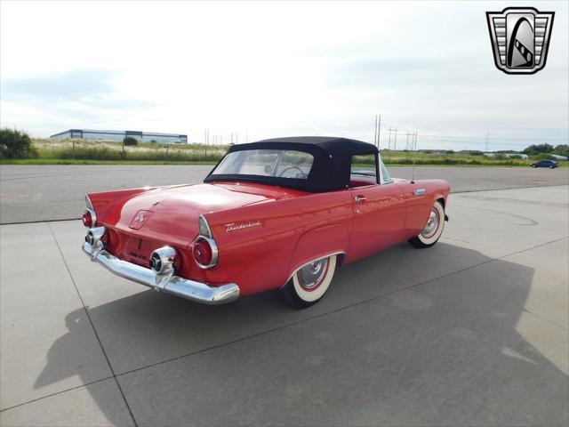
[[[314,157],[293,149],[244,149],[223,157],[212,175],[259,175],[306,180]]]

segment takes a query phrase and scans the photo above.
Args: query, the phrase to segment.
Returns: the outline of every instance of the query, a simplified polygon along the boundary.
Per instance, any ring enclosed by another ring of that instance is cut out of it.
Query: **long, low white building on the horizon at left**
[[[140,131],[97,131],[92,129],[69,129],[68,131],[55,133],[50,138],[67,140],[67,139],[83,139],[83,140],[104,140],[104,141],[123,141],[125,136],[132,136],[140,142],[170,142],[178,144],[187,144],[188,135],[180,133],[157,133],[157,132],[140,132]]]

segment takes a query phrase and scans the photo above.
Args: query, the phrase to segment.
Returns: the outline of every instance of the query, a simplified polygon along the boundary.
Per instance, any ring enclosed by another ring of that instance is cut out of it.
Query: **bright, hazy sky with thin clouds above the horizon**
[[[326,135],[418,149],[569,140],[569,7],[559,2],[0,3],[1,125]],[[495,68],[485,12],[556,12],[547,65]],[[392,129],[389,132],[389,128]],[[390,135],[390,136],[389,136]]]

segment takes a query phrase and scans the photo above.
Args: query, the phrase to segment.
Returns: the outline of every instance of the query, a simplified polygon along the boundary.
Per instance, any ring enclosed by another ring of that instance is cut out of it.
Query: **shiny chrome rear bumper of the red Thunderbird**
[[[235,301],[239,297],[239,286],[228,283],[220,286],[208,286],[201,282],[180,278],[173,275],[157,275],[153,270],[140,265],[119,260],[115,255],[104,249],[93,248],[88,243],[83,244],[84,253],[89,255],[92,262],[99,262],[111,273],[121,278],[128,278],[156,291],[174,294],[191,301],[205,304],[223,304]]]

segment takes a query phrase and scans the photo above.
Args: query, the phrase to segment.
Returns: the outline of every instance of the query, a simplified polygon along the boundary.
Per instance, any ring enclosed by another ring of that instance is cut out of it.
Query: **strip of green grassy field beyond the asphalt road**
[[[204,144],[139,143],[124,147],[113,141],[34,139],[36,157],[26,159],[0,158],[8,165],[213,165],[219,161],[228,146]],[[462,153],[422,153],[413,151],[381,150],[387,165],[448,165],[448,166],[514,166],[526,167],[535,159],[485,157]],[[558,162],[567,167],[568,162]]]

